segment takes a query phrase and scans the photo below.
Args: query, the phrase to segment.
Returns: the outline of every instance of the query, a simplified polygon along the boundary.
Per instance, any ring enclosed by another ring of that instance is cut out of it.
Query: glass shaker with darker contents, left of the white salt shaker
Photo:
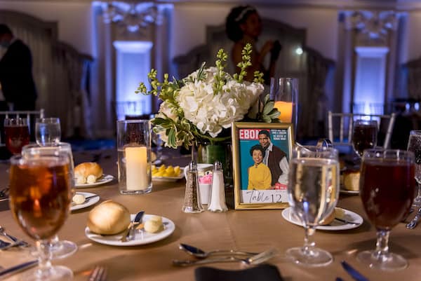
[[[182,206],[182,212],[200,213],[203,212],[203,206],[200,200],[199,182],[197,180],[197,164],[192,161],[189,164],[186,178],[185,203]]]

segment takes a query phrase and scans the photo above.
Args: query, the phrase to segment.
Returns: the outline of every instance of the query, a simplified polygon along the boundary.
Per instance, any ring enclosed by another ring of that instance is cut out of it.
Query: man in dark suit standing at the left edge
[[[0,84],[6,102],[13,104],[13,110],[35,110],[31,51],[3,24],[0,24],[0,48],[7,49],[0,60]]]

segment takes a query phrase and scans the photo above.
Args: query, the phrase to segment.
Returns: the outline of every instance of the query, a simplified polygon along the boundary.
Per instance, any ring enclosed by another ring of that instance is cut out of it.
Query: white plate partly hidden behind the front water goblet
[[[282,217],[283,219],[286,219],[292,224],[296,224],[298,226],[302,226],[302,223],[298,217],[295,216],[292,212],[293,208],[288,207],[285,210],[282,211]],[[352,221],[355,224],[345,224],[342,221],[334,220],[329,226],[317,226],[316,229],[320,229],[322,231],[345,231],[347,229],[357,228],[361,226],[363,223],[363,218],[354,212],[351,212],[349,210],[344,209],[345,211],[345,219],[346,221]]]

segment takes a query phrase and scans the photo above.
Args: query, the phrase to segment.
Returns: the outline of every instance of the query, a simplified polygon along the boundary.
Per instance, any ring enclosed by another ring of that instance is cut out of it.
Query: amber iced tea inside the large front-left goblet
[[[36,240],[51,238],[69,214],[69,163],[54,158],[12,163],[11,210],[20,227]]]

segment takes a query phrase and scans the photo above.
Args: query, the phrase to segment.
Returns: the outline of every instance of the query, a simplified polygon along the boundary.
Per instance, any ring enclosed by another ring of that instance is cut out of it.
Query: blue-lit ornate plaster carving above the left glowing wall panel
[[[122,24],[128,32],[137,32],[150,24],[161,25],[162,15],[154,1],[107,1],[103,4],[104,22]]]

